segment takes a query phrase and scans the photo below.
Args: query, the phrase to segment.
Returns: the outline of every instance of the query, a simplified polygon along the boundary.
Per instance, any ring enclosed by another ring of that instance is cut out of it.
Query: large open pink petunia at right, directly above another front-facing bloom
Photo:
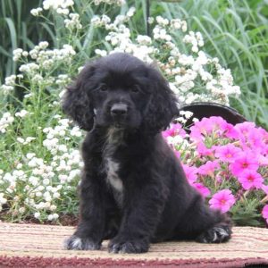
[[[234,159],[233,163],[230,163],[230,172],[233,175],[239,176],[242,172],[247,170],[257,171],[259,164],[255,155],[248,152],[241,153],[237,158]]]

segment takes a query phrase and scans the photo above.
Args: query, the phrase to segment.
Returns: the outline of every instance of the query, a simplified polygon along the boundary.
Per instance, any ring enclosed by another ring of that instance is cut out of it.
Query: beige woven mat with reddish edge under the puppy
[[[268,265],[268,230],[234,227],[226,244],[166,242],[153,244],[147,254],[113,255],[107,241],[99,251],[67,251],[63,240],[70,226],[0,223],[0,266],[168,266],[240,267],[244,264]]]

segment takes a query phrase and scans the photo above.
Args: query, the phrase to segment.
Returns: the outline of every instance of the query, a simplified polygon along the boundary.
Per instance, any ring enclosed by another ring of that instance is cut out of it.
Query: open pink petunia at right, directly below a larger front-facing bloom
[[[263,177],[258,172],[252,170],[242,172],[238,180],[245,189],[262,188],[264,182]]]

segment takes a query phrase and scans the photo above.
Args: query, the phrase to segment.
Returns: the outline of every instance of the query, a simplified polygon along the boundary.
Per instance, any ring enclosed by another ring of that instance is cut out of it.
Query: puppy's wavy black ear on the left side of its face
[[[76,121],[82,130],[88,131],[93,128],[94,111],[88,98],[87,83],[94,71],[92,64],[86,65],[63,95],[63,112]]]

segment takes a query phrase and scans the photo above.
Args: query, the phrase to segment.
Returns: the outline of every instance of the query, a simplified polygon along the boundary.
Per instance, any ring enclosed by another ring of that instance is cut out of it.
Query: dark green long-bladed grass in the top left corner
[[[41,4],[41,0],[1,0],[0,1],[0,83],[4,77],[16,72],[13,50],[28,49],[38,40],[47,38],[46,29],[38,24],[37,18],[29,11]]]

